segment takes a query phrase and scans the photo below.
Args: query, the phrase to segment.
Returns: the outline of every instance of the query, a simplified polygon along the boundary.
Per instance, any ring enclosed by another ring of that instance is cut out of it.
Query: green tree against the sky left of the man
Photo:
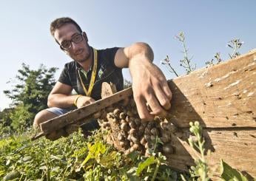
[[[30,69],[30,66],[22,64],[18,69],[13,89],[4,90],[4,94],[13,100],[13,111],[9,118],[11,126],[30,126],[37,112],[47,108],[47,97],[55,84],[54,74],[57,68],[47,69],[40,65],[38,69]]]

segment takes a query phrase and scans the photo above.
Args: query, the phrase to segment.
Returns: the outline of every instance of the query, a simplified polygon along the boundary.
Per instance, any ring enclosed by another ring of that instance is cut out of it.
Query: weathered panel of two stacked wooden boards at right
[[[220,159],[256,177],[256,50],[238,58],[169,81],[172,122],[183,130],[173,135],[169,165],[187,171],[197,157],[189,146],[189,122],[204,127],[207,156],[217,179]],[[181,136],[182,135],[182,136]]]

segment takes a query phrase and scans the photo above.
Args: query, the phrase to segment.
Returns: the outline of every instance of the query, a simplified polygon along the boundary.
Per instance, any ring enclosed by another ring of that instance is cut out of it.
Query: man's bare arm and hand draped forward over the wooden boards
[[[165,115],[171,107],[172,92],[161,69],[152,64],[153,58],[151,47],[145,43],[118,49],[115,55],[115,66],[129,67],[133,96],[143,120],[152,120],[154,115]],[[149,112],[146,104],[152,112]]]

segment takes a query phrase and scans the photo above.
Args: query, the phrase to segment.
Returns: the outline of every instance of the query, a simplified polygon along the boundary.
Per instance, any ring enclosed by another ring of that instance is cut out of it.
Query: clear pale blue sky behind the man
[[[228,41],[244,41],[241,53],[256,48],[256,1],[7,1],[0,2],[0,109],[9,105],[3,90],[7,81],[15,78],[21,64],[37,69],[40,64],[58,67],[56,78],[64,64],[71,61],[58,48],[50,35],[49,25],[55,18],[69,16],[87,32],[89,43],[96,49],[126,47],[136,41],[148,43],[155,52],[155,64],[166,78],[174,78],[160,64],[166,55],[180,74],[183,57],[175,35],[183,31],[189,55],[198,68],[215,52],[228,59]],[[129,78],[129,71],[124,71]]]

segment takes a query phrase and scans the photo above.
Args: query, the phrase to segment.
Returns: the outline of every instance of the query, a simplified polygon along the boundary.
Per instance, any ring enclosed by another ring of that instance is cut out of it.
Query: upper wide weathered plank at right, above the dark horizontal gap
[[[256,127],[256,49],[169,81],[172,122],[182,128]]]

